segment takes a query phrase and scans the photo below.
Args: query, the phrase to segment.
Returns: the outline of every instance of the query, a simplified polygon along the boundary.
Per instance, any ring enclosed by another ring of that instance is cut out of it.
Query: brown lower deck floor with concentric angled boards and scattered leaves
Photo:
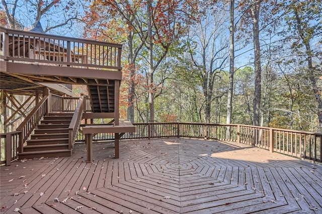
[[[120,159],[112,143],[94,144],[87,163],[75,147],[0,167],[3,213],[322,213],[322,166],[263,149],[130,140]]]

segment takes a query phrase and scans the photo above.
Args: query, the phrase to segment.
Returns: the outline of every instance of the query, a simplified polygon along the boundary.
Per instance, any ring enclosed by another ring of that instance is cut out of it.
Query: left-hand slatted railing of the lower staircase
[[[40,120],[44,117],[47,111],[48,105],[48,95],[43,96],[43,98],[38,102],[35,108],[31,111],[31,113],[26,117],[26,119],[20,124],[17,128],[17,131],[21,131],[19,134],[19,146],[18,152],[24,152],[24,143],[27,141],[31,133],[39,124]]]

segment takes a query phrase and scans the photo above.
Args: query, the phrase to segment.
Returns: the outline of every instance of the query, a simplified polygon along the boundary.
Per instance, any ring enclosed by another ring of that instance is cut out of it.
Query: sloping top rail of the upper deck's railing
[[[110,47],[116,47],[116,48],[122,48],[122,46],[123,46],[122,44],[116,44],[116,43],[111,43],[111,42],[101,42],[101,41],[88,40],[88,39],[77,39],[77,38],[72,38],[72,37],[44,34],[44,33],[38,33],[38,32],[13,30],[13,29],[8,29],[8,28],[4,28],[4,27],[0,27],[0,31],[7,33],[7,34],[42,37],[42,38],[46,38],[46,39],[56,39],[56,40],[64,40],[64,41],[70,41],[70,42],[104,45],[104,46],[110,46]]]

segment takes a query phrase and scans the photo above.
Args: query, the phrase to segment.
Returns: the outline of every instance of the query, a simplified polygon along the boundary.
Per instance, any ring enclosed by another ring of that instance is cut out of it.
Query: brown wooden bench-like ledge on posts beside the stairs
[[[119,140],[128,132],[135,132],[135,126],[128,121],[120,121],[118,126],[111,125],[90,125],[83,128],[85,142],[87,144],[87,162],[93,161],[93,134],[114,133],[115,135],[115,158],[119,158]]]

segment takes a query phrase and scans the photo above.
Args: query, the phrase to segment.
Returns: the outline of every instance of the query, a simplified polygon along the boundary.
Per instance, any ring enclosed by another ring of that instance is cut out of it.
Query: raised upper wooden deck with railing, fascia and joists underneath
[[[0,27],[1,89],[121,80],[122,45]]]

